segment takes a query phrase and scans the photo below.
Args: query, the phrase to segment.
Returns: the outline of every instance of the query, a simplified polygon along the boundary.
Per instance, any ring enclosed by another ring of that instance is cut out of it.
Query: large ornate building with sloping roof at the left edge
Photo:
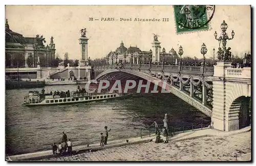
[[[5,24],[5,58],[6,68],[37,67],[38,57],[41,67],[51,67],[55,59],[55,44],[51,37],[50,44],[44,45],[45,38],[23,37],[10,30],[8,20]]]

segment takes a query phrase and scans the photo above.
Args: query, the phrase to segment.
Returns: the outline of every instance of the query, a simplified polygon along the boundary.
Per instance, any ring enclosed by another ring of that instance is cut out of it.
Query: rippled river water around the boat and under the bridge
[[[47,86],[46,92],[75,91],[75,85]],[[187,125],[210,118],[172,94],[137,94],[131,98],[70,105],[22,106],[24,96],[34,89],[6,91],[6,153],[9,155],[50,150],[60,142],[62,131],[74,145],[99,142],[104,126],[111,128],[109,140],[140,136],[141,128],[154,120],[163,125]],[[37,89],[41,91],[41,89]],[[142,131],[146,132],[148,131]]]

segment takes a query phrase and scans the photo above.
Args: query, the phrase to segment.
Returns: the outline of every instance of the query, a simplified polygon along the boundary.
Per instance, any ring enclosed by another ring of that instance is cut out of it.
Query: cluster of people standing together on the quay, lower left
[[[56,145],[56,143],[53,143],[52,145],[53,156],[54,157],[56,157],[56,155],[65,156],[67,154],[72,155],[72,147],[73,147],[73,144],[71,140],[69,139],[68,141],[67,134],[63,131],[61,143],[59,142],[58,145]]]

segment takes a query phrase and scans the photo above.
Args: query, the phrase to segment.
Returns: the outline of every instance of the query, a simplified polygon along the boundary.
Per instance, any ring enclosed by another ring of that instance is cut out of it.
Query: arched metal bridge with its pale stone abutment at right
[[[251,68],[103,63],[94,67],[95,79],[166,81],[169,92],[211,117],[215,129],[232,131],[250,125]],[[159,85],[159,84],[158,84]]]

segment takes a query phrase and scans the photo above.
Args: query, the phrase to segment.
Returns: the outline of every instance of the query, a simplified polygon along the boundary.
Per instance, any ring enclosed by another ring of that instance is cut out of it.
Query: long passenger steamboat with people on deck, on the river
[[[132,93],[87,93],[84,89],[75,92],[52,92],[45,93],[43,89],[41,93],[38,91],[29,91],[28,96],[24,97],[25,106],[34,105],[52,105],[52,104],[71,104],[80,102],[102,101],[115,98],[126,98],[132,96]]]

